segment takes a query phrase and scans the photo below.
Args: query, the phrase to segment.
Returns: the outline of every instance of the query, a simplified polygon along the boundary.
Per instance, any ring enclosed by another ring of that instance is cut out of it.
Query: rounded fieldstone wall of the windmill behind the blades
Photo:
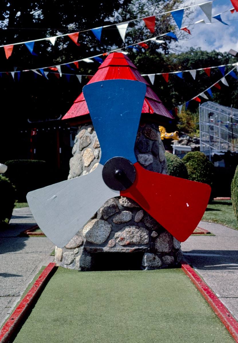
[[[92,125],[79,127],[72,153],[68,179],[88,174],[97,167],[101,150]],[[140,125],[135,155],[145,169],[166,174],[164,146],[157,125]],[[55,248],[55,262],[65,268],[87,271],[93,270],[98,252],[137,251],[144,252],[143,269],[166,268],[182,258],[179,241],[136,202],[117,197],[102,205],[63,249]]]

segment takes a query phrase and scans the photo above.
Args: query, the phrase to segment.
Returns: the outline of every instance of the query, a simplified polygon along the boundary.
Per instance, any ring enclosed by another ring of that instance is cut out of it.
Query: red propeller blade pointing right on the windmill
[[[177,240],[185,241],[206,209],[209,185],[149,171],[137,162],[136,180],[123,197],[135,200]]]

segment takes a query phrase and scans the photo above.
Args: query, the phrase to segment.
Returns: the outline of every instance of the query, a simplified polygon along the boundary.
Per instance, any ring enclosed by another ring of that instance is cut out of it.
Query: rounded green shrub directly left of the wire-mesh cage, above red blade
[[[214,178],[214,165],[207,156],[200,151],[188,152],[183,158],[188,179],[192,181],[203,182],[212,186]]]

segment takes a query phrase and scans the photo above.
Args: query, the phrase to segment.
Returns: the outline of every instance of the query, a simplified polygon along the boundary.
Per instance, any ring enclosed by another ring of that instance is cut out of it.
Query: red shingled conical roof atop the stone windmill
[[[145,83],[147,85],[147,91],[141,112],[174,118],[164,107],[159,97],[152,91],[149,83],[138,72],[136,66],[134,66],[126,55],[120,52],[112,52],[108,55],[88,83],[111,79],[136,80]],[[82,92],[62,119],[71,119],[88,114],[89,110]]]

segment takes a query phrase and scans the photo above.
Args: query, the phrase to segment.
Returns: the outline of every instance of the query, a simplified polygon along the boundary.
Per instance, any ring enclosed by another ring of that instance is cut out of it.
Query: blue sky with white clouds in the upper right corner
[[[191,5],[202,2],[206,2],[206,0],[188,0],[185,4]],[[212,16],[231,8],[232,3],[230,0],[214,0]],[[193,14],[191,14],[189,18],[184,16],[182,26],[185,26],[190,22],[194,23],[201,19],[204,19],[206,23],[209,23],[203,11],[199,6],[196,6]],[[213,49],[221,52],[229,51],[230,49],[238,51],[238,12],[231,14],[231,12],[228,11],[221,14],[221,19],[229,24],[229,26],[224,25],[213,18],[212,24],[196,24],[189,26],[192,36],[189,36],[189,40],[179,40],[181,50],[186,50],[186,48],[189,47],[201,47],[202,50],[207,51],[211,51]]]

